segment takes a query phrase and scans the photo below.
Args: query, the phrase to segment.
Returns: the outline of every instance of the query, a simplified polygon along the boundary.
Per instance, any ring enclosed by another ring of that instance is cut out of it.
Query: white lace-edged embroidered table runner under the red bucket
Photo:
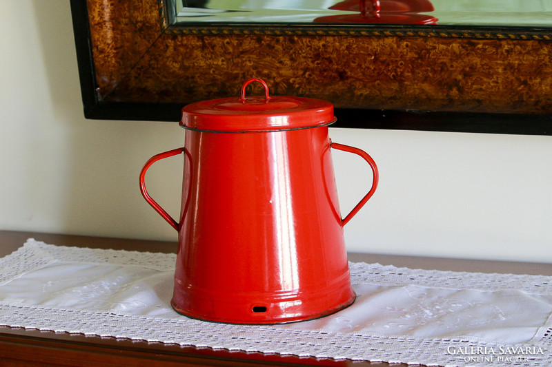
[[[552,366],[552,277],[350,263],[353,306],[247,326],[172,311],[175,261],[29,239],[0,259],[0,325],[428,366]]]

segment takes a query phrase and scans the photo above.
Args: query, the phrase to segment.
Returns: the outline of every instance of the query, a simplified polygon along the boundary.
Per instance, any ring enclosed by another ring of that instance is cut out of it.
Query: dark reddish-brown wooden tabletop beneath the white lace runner
[[[127,249],[171,253],[176,242],[99,238],[80,235],[0,231],[0,256],[5,256],[34,238],[59,246]],[[379,262],[414,269],[480,271],[552,275],[552,264],[422,258],[413,256],[351,253],[349,260]],[[1,269],[0,269],[1,271]],[[115,337],[54,333],[33,329],[0,327],[0,366],[396,366],[382,362],[265,355],[177,344],[150,343]]]

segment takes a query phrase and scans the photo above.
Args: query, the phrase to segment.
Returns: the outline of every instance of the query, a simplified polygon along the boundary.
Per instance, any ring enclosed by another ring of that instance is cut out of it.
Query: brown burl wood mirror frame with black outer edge
[[[552,134],[552,29],[178,25],[166,0],[70,3],[87,118],[178,121],[257,77],[331,101],[338,127]]]

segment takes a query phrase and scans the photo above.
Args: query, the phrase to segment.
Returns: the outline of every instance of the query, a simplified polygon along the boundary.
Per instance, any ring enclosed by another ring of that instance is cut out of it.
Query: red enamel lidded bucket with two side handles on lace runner
[[[264,96],[246,97],[259,82]],[[343,226],[373,195],[373,159],[333,143],[333,105],[270,96],[260,79],[242,95],[187,105],[184,147],[141,171],[146,201],[178,231],[172,306],[217,322],[275,324],[322,317],[353,303]],[[342,218],[331,150],[361,156],[368,192]],[[184,153],[179,220],[146,191],[147,169]]]

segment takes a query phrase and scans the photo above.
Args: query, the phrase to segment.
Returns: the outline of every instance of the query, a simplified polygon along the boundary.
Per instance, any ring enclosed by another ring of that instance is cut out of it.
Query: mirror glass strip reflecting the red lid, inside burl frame
[[[168,0],[172,23],[552,27],[552,0]]]

